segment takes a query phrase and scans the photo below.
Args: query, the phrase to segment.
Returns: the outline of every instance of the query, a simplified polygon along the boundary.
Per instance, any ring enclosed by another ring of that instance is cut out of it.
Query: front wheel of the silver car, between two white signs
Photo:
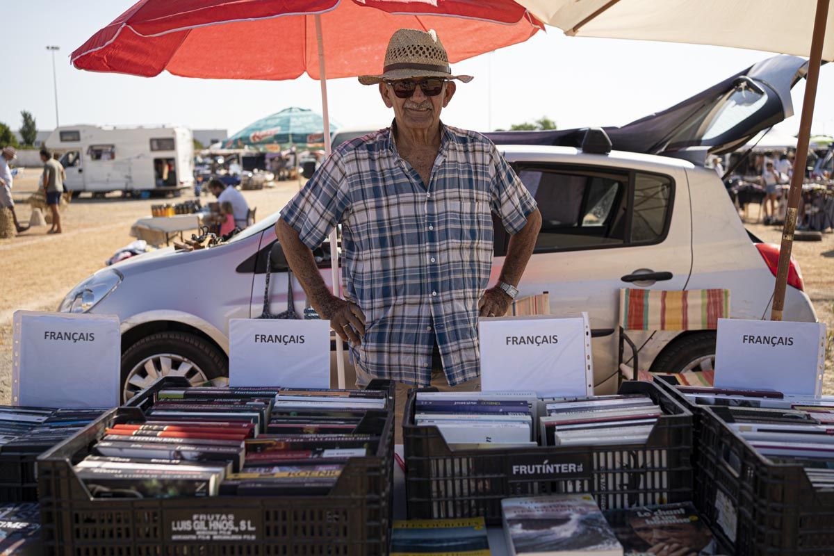
[[[122,398],[133,398],[157,378],[183,377],[194,386],[225,383],[229,360],[214,344],[185,332],[159,332],[122,354]]]

